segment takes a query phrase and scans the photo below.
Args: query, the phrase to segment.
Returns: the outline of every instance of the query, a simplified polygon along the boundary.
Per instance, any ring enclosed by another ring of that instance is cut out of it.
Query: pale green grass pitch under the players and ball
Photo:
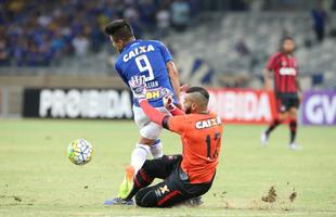
[[[287,126],[262,148],[263,127],[224,127],[217,177],[201,207],[156,209],[103,206],[137,142],[132,122],[0,120],[0,216],[336,216],[336,128],[299,127],[303,150],[295,152]],[[78,138],[94,148],[85,166],[66,156]],[[161,140],[166,154],[181,152],[177,136],[165,131]],[[275,202],[263,202],[271,187]]]

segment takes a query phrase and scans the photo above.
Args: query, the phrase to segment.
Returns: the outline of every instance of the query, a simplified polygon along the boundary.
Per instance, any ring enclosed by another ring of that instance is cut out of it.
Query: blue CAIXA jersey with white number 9
[[[145,76],[146,99],[152,106],[159,107],[164,106],[160,95],[163,88],[169,89],[175,94],[166,66],[166,63],[171,60],[164,43],[154,40],[135,40],[124,48],[115,63],[115,68],[127,86],[132,76]],[[134,99],[133,104],[139,106]]]

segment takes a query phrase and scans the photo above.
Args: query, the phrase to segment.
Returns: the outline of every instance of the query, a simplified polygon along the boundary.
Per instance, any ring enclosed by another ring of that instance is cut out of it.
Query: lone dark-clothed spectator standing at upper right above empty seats
[[[325,23],[327,21],[327,14],[322,7],[322,2],[319,1],[319,5],[311,11],[313,20],[313,30],[315,31],[316,39],[322,42],[325,35]]]

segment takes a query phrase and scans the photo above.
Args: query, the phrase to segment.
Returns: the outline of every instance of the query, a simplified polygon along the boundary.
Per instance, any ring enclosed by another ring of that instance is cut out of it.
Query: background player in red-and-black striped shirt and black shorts
[[[297,111],[300,102],[300,85],[298,80],[298,65],[293,52],[295,41],[290,37],[285,37],[281,43],[281,50],[275,52],[264,68],[264,86],[271,89],[271,74],[274,77],[274,93],[276,99],[277,116],[270,126],[261,133],[261,142],[266,146],[270,133],[276,126],[289,119],[290,141],[289,149],[298,150],[296,145]]]

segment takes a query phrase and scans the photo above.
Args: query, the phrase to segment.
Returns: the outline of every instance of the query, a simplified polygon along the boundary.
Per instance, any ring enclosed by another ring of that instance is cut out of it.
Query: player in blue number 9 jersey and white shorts
[[[163,104],[161,89],[173,92],[175,102],[179,102],[180,81],[177,67],[172,58],[160,41],[137,40],[132,27],[124,20],[116,20],[105,28],[113,46],[120,55],[116,60],[115,69],[128,86],[128,81],[135,75],[144,76],[146,81],[146,99],[156,110],[170,114]],[[118,196],[106,201],[106,205],[132,204],[126,201],[133,184],[133,176],[142,167],[147,155],[152,153],[154,158],[163,156],[163,145],[159,140],[161,126],[151,122],[141,110],[137,100],[133,100],[134,120],[140,129],[140,139],[131,155],[131,165],[126,168],[126,176],[120,186]]]

